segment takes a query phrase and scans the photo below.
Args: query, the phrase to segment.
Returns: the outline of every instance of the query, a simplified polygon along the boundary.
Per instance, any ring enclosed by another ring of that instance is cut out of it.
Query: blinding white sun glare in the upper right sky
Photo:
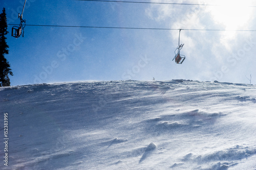
[[[246,29],[250,25],[251,1],[222,0],[215,1],[220,7],[210,7],[212,18],[217,24],[224,25],[226,30]],[[218,3],[217,3],[218,2]]]

